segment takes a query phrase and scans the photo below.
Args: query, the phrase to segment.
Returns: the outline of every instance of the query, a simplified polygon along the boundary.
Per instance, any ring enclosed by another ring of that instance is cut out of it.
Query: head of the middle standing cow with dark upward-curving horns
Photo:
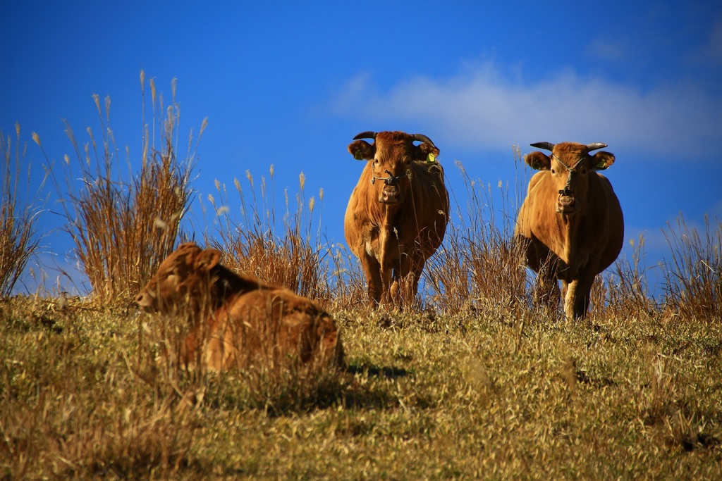
[[[372,138],[373,144],[359,140]],[[414,141],[421,144],[414,145]],[[372,161],[371,184],[378,190],[378,201],[397,204],[404,201],[412,176],[412,162],[433,162],[439,149],[430,138],[420,133],[362,132],[349,144],[349,152],[357,160]]]

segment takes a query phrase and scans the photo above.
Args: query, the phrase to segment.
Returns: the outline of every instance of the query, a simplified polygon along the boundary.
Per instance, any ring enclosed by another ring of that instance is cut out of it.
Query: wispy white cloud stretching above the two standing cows
[[[722,133],[722,106],[693,84],[648,92],[567,69],[508,79],[484,63],[446,79],[419,76],[380,92],[368,74],[351,79],[336,113],[377,123],[414,120],[447,141],[508,149],[535,141],[604,142],[648,154],[708,152]]]

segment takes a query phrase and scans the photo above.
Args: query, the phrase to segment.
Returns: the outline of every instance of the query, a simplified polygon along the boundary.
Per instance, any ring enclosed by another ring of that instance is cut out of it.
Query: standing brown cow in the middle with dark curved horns
[[[363,132],[354,140],[349,152],[367,162],[346,210],[346,241],[361,260],[372,306],[410,304],[449,219],[439,149],[419,133]]]

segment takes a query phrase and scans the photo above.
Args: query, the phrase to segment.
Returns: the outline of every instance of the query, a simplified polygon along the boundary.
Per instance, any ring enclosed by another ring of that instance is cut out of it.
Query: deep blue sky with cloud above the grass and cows
[[[2,1],[0,45],[0,129],[20,124],[36,176],[30,133],[61,162],[64,119],[83,142],[99,129],[92,94],[110,96],[116,144],[139,159],[142,69],[167,99],[178,79],[183,138],[208,118],[197,195],[271,164],[277,193],[294,195],[304,172],[333,242],[362,169],[346,146],[367,130],[432,138],[462,211],[456,160],[513,184],[513,145],[604,142],[625,237],[645,234],[648,264],[669,257],[661,229],[679,213],[722,219],[718,0]],[[67,262],[63,219],[42,219],[40,264]]]

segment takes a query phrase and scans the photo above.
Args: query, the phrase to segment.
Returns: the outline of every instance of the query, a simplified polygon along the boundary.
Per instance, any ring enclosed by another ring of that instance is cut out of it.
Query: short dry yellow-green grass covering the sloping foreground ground
[[[10,479],[722,475],[718,322],[341,311],[346,371],[193,379],[134,310],[0,307]]]

